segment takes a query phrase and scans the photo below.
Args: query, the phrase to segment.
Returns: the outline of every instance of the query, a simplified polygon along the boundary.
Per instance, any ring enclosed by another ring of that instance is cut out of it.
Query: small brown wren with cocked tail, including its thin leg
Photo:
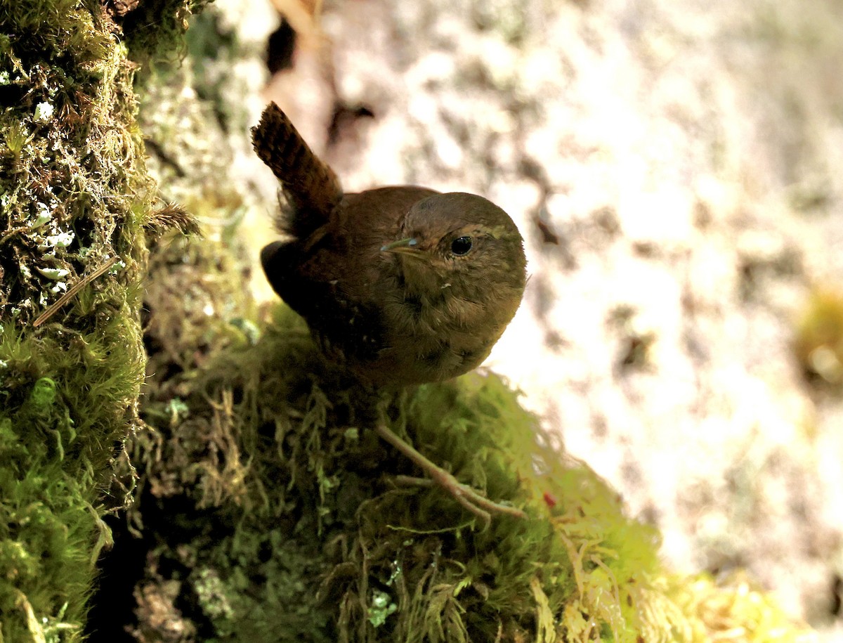
[[[260,262],[326,355],[373,386],[448,380],[486,359],[526,282],[524,241],[507,213],[474,194],[417,186],[345,194],[274,103],[252,140],[286,199],[288,238],[266,246]],[[523,515],[459,484],[385,426],[379,434],[462,504],[470,496]]]

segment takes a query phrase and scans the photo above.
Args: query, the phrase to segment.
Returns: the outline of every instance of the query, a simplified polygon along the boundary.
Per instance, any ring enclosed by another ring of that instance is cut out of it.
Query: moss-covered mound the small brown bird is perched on
[[[225,337],[227,349],[177,378],[177,408],[164,397],[146,408],[154,429],[138,436],[136,461],[151,493],[133,511],[156,544],[135,592],[141,619],[155,604],[145,597],[175,583],[170,622],[190,624],[197,640],[695,641],[728,624],[761,641],[800,631],[769,602],[759,616],[757,592],[727,600],[731,590],[711,581],[663,575],[658,534],[553,449],[497,376],[373,399],[325,364],[282,305],[260,337]],[[427,457],[529,520],[486,527],[442,489],[408,482],[418,472],[374,434],[372,404]],[[749,629],[762,622],[778,629]]]

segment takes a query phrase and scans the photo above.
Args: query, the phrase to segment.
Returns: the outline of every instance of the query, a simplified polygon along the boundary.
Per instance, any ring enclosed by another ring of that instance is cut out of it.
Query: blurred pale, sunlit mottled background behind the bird
[[[531,278],[486,365],[668,565],[745,568],[843,636],[843,3],[217,0],[195,22],[180,94],[142,105],[144,131],[180,123],[151,166],[188,208],[236,202],[261,298],[269,100],[347,192],[491,198]],[[207,105],[222,127],[197,134]],[[188,148],[216,168],[198,185]]]

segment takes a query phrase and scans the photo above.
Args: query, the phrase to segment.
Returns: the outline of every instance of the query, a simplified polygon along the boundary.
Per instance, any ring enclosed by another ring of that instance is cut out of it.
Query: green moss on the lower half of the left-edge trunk
[[[107,300],[101,302],[106,306]],[[0,611],[4,640],[79,640],[111,462],[132,427],[143,364],[137,321],[0,338]],[[53,632],[51,635],[50,633]]]

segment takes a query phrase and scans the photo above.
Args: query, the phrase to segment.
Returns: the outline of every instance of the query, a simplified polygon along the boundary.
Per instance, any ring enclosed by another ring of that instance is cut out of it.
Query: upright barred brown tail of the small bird
[[[251,132],[255,154],[281,181],[292,210],[283,228],[299,239],[306,238],[328,220],[342,200],[339,179],[275,103],[266,106]]]

